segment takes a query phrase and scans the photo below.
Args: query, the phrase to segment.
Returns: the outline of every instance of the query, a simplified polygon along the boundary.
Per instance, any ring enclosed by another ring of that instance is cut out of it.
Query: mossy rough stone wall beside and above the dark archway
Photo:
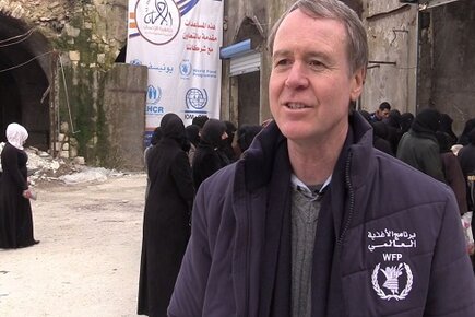
[[[58,142],[70,134],[78,152],[88,164],[100,164],[98,144],[105,122],[104,80],[120,49],[127,43],[127,0],[0,0],[0,14],[21,20],[40,32],[57,55],[57,69],[50,78],[56,95],[51,106],[67,131],[58,130]],[[61,139],[61,140],[59,140]],[[59,151],[64,150],[58,149]],[[64,151],[60,152],[63,155]]]

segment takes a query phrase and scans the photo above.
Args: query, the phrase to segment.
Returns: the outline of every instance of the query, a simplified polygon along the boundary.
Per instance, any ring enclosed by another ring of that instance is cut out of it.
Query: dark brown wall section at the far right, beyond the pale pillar
[[[475,2],[456,1],[425,12],[419,106],[450,115],[459,134],[465,121],[475,118]]]

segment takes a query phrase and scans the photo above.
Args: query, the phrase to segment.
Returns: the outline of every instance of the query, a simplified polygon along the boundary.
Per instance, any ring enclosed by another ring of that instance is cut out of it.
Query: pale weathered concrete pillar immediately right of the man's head
[[[417,82],[417,7],[399,0],[366,1],[369,66],[360,108],[373,111],[389,102],[414,113]]]

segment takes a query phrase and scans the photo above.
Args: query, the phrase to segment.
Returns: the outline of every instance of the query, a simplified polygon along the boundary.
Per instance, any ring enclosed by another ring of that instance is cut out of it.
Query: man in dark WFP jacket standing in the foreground
[[[368,48],[337,0],[270,34],[274,121],[202,183],[169,316],[475,316],[450,188],[372,148]]]

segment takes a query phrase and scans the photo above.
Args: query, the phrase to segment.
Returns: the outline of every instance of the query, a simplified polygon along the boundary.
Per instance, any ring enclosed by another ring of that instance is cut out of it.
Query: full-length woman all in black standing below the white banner
[[[175,114],[161,122],[162,139],[147,154],[150,191],[143,220],[139,315],[166,317],[190,237],[194,198],[191,168],[182,150],[185,126]]]

